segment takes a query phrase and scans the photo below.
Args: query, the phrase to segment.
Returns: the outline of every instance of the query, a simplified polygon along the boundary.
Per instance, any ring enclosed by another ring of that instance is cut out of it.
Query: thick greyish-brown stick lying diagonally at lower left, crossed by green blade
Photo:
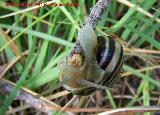
[[[2,93],[5,93],[5,94],[10,93],[13,90],[14,86],[15,86],[15,84],[8,81],[8,80],[5,80],[5,79],[0,80],[0,92],[2,92]],[[45,113],[48,113],[51,110],[60,110],[61,109],[61,107],[59,105],[45,99],[44,97],[37,98],[36,97],[37,95],[38,95],[37,93],[35,93],[31,90],[28,90],[26,88],[22,88],[19,91],[16,99],[24,101],[27,104],[29,104],[30,106],[40,110],[41,112],[45,112]]]

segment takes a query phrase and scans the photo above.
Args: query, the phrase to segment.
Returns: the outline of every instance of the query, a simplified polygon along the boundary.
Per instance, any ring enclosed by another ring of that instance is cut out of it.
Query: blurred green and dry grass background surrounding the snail
[[[32,3],[33,6],[6,6],[5,2]],[[78,6],[34,8],[38,2],[47,0],[0,2],[0,78],[16,84],[8,96],[0,94],[2,113],[6,110],[14,113],[13,110],[25,106],[14,101],[22,86],[38,94],[51,90],[46,97],[62,92],[50,98],[62,107],[73,97],[64,93],[63,88],[52,91],[59,77],[57,63],[69,54],[96,0],[56,0],[56,3],[76,3]],[[14,14],[7,15],[10,13]],[[97,91],[90,97],[79,97],[70,106],[99,109],[159,106],[160,1],[113,0],[96,27],[96,33],[114,33],[124,47],[122,80],[115,86],[119,92]],[[35,114],[37,111],[28,107],[18,112]]]

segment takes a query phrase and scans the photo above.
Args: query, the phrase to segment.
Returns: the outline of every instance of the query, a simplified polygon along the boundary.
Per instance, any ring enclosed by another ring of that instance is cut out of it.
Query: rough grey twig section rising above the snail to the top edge
[[[112,0],[99,0],[96,5],[91,8],[90,15],[86,18],[85,24],[89,23],[92,27],[96,27],[101,15],[107,9]]]

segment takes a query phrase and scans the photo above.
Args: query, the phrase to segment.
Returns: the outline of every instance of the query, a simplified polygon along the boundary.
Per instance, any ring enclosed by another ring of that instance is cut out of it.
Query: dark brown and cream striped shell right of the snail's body
[[[107,37],[99,36],[98,44],[96,61],[100,68],[105,70],[100,84],[111,87],[120,79],[123,64],[123,47],[112,35]]]

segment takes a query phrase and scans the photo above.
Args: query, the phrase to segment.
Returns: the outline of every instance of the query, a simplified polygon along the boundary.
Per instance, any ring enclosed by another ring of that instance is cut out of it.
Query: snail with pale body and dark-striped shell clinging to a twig
[[[123,47],[112,35],[96,36],[91,25],[78,33],[70,55],[60,63],[63,87],[76,95],[89,95],[96,89],[111,89],[120,79]]]

